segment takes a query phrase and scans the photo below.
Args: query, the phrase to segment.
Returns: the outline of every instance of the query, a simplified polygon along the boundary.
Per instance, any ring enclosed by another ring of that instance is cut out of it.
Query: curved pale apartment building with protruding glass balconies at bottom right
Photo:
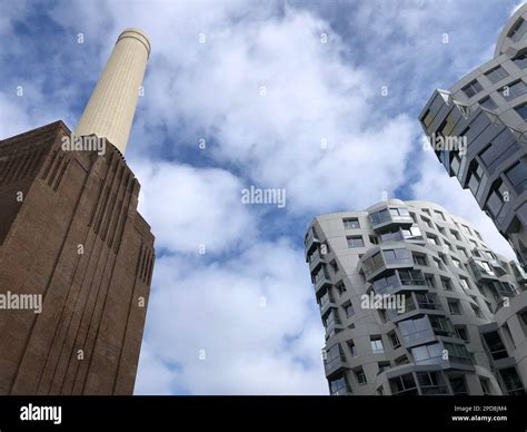
[[[392,199],[316,217],[305,248],[331,394],[525,392],[527,275],[468,222]]]

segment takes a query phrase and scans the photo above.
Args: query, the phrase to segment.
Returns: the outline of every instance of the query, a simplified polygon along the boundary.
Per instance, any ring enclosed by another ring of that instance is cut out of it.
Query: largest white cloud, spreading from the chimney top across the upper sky
[[[297,214],[340,209],[351,198],[366,207],[372,195],[399,187],[415,121],[379,116],[380,86],[344,59],[335,33],[321,42],[327,22],[269,6],[236,20],[247,10],[240,4],[247,8],[213,3],[212,14],[187,3],[152,3],[149,13],[140,3],[115,3],[116,35],[133,23],[152,39],[131,154],[160,154],[161,143],[148,139],[152,127],[177,137],[162,150],[176,157],[177,146],[210,138],[207,156],[258,186],[286,188],[288,210]]]

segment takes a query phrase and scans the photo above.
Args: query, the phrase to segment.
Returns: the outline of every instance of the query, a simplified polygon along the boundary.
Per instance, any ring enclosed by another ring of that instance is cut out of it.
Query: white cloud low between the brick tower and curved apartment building
[[[198,259],[158,261],[140,370],[165,374],[175,365],[170,380],[192,394],[327,394],[302,253],[280,239],[221,265]],[[136,387],[152,391],[166,386],[142,380]]]

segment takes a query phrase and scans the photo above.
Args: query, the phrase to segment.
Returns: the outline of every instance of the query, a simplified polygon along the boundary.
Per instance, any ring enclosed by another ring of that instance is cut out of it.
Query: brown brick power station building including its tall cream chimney
[[[0,394],[133,392],[155,237],[125,150],[149,55],[125,30],[74,135],[0,141]]]

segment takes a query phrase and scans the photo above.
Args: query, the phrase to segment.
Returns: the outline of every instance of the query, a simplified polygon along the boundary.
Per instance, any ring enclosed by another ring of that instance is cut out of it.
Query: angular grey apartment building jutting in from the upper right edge
[[[494,58],[436,90],[419,115],[449,176],[527,265],[527,4],[503,29]],[[459,139],[463,146],[456,146]]]

